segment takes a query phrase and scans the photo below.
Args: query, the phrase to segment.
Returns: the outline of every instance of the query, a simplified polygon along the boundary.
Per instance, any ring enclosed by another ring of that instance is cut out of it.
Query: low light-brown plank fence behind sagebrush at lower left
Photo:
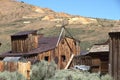
[[[0,71],[18,71],[21,73],[27,80],[30,80],[30,67],[31,62],[4,62],[0,61]]]

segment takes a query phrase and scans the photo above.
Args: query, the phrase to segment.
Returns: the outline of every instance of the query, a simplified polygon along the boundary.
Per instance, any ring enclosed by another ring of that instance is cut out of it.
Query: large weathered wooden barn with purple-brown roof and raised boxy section
[[[73,37],[60,36],[44,37],[37,34],[36,30],[22,31],[11,35],[12,50],[0,55],[4,57],[23,57],[28,61],[46,60],[58,65],[59,69],[65,68],[72,54],[78,55],[80,42]]]

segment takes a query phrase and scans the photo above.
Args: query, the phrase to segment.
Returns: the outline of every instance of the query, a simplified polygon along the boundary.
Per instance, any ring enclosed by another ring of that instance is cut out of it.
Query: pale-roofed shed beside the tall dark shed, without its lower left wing
[[[92,59],[91,72],[108,73],[109,44],[95,44],[89,51]],[[88,56],[87,55],[87,56]]]

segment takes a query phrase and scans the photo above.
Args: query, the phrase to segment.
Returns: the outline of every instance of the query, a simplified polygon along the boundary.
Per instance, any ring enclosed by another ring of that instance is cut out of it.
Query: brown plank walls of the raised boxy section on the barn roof
[[[38,36],[35,34],[29,34],[26,37],[13,37],[13,39],[11,39],[11,44],[13,53],[29,52],[30,50],[38,47]]]

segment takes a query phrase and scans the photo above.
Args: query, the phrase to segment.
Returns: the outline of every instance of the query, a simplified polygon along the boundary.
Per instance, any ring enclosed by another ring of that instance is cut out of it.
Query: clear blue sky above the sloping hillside
[[[19,0],[20,1],[20,0]],[[56,12],[85,17],[120,19],[120,0],[21,0]]]

